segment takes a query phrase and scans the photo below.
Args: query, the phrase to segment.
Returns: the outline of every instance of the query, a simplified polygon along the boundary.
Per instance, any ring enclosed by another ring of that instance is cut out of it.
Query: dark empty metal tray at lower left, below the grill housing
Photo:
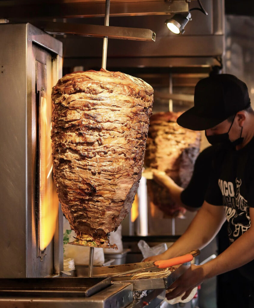
[[[0,278],[0,296],[22,293],[34,296],[89,297],[111,285],[105,277]]]

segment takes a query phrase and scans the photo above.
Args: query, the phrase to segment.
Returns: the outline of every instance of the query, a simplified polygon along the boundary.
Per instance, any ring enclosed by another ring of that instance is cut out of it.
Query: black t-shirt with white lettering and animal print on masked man
[[[223,205],[228,237],[233,243],[251,225],[249,208],[254,207],[254,138],[242,149],[224,148],[213,160],[213,172],[205,195],[212,205]],[[254,261],[239,268],[254,280]]]

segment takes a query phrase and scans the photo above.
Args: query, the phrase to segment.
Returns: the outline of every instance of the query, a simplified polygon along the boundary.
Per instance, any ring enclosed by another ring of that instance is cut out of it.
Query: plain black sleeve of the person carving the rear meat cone
[[[213,145],[204,149],[196,159],[192,178],[188,186],[181,193],[183,204],[200,208],[204,203],[205,193],[213,172],[212,161],[221,146]]]

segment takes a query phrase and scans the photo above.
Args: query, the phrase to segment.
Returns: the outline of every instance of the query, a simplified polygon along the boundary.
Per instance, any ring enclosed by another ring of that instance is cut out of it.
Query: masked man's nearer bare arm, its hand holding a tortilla
[[[254,208],[250,208],[250,218],[254,221]],[[177,279],[171,287],[174,290],[167,294],[168,299],[178,297],[186,292],[182,299],[187,298],[195,286],[204,279],[234,270],[254,259],[254,224],[232,243],[223,253],[204,265],[191,267]]]

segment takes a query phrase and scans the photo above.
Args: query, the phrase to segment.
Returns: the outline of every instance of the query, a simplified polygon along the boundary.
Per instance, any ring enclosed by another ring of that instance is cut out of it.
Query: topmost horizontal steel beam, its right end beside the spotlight
[[[2,1],[1,1],[2,2]],[[37,1],[30,5],[22,1],[8,3],[0,2],[0,18],[84,18],[102,17],[105,14],[105,2],[86,3],[65,2],[43,3]],[[157,1],[119,1],[113,2],[110,6],[110,16],[137,16],[137,15],[157,15],[187,12],[188,3],[185,0],[173,0],[170,2]]]

